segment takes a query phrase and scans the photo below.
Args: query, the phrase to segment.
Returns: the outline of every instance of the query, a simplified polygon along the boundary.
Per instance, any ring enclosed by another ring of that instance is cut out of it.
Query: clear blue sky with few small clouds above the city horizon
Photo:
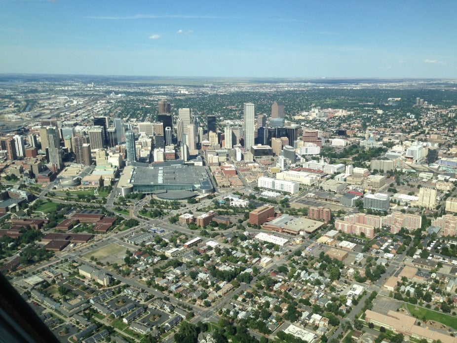
[[[0,0],[0,73],[457,78],[457,1]]]

